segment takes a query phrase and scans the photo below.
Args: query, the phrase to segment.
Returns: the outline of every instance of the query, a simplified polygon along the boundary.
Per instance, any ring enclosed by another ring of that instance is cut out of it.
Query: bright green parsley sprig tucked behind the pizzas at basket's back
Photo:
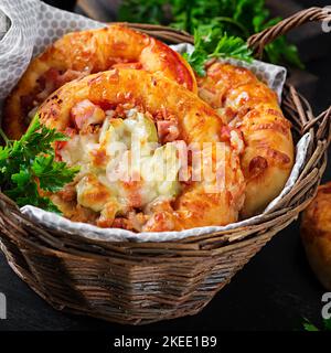
[[[234,57],[250,63],[252,51],[238,36],[223,35],[213,25],[200,26],[194,31],[194,51],[184,54],[185,60],[197,75],[205,75],[205,63],[213,57]]]

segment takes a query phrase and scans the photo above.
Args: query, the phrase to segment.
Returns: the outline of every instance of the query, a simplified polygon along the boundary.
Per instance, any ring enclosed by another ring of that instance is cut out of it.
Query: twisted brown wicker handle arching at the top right
[[[331,10],[328,11],[327,8],[314,7],[299,11],[291,17],[281,20],[277,24],[269,26],[259,33],[253,34],[248,38],[247,44],[255,52],[255,56],[261,58],[264,47],[267,44],[301,24],[314,21],[331,21]]]

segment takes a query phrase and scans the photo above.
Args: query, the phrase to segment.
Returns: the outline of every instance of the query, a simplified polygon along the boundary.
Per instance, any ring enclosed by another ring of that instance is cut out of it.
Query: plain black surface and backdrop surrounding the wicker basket
[[[111,2],[111,0],[108,0]],[[75,1],[46,1],[83,12]],[[84,2],[84,1],[78,1]],[[86,2],[86,1],[85,1]],[[90,0],[95,2],[95,0]],[[277,14],[310,6],[331,6],[331,1],[268,1]],[[329,2],[329,3],[328,3]],[[110,17],[111,18],[111,17]],[[291,79],[309,98],[316,114],[331,104],[331,33],[321,34],[319,24],[306,25],[291,34],[306,63],[306,73],[293,72]],[[330,156],[330,151],[329,151]],[[324,181],[331,180],[330,164]],[[172,330],[301,330],[302,318],[321,323],[321,285],[311,272],[299,237],[299,221],[293,222],[267,244],[199,314],[145,327],[122,327],[76,317],[52,309],[9,268],[0,255],[0,292],[7,296],[7,330],[105,330],[152,332]]]

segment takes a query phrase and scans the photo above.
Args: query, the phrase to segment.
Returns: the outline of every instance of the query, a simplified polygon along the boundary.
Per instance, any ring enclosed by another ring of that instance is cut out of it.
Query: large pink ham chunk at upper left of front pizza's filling
[[[71,111],[76,127],[82,130],[88,125],[102,124],[105,120],[105,111],[88,99],[77,103]]]

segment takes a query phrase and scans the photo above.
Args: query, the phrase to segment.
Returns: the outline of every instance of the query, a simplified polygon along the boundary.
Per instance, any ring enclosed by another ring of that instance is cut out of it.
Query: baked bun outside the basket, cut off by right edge
[[[331,290],[331,182],[319,186],[317,196],[303,211],[301,238],[311,268]]]

